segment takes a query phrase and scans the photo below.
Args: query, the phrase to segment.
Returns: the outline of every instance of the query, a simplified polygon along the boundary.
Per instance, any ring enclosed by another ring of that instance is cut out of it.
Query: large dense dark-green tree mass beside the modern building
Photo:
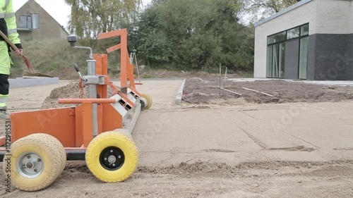
[[[252,68],[253,33],[240,1],[155,0],[140,16],[131,47],[152,67],[213,71]]]

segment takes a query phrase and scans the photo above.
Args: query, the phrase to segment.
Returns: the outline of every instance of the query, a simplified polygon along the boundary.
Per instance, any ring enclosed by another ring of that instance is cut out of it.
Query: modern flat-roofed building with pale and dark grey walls
[[[255,26],[254,78],[353,80],[352,0],[301,0]]]

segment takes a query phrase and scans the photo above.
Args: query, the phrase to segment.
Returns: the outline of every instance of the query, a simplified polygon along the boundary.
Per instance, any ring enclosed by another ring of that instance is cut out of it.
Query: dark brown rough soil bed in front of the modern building
[[[275,104],[353,100],[353,87],[313,85],[285,80],[258,80],[254,82],[232,82],[227,80],[225,88],[232,92],[237,92],[241,96],[225,92],[218,87],[220,87],[219,79],[186,80],[183,101],[190,104],[213,104],[215,101],[227,101],[228,99],[238,98],[244,99],[248,103]],[[265,94],[243,88],[254,89]]]

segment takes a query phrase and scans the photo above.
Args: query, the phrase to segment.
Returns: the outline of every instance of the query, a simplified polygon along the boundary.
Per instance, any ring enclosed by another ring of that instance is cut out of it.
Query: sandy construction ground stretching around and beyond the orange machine
[[[133,130],[140,161],[125,182],[100,182],[84,161],[68,161],[47,189],[1,185],[0,197],[353,197],[352,88],[244,82],[226,86],[242,97],[220,97],[216,80],[187,80],[177,105],[181,82],[138,85],[153,104]],[[9,109],[40,108],[68,83],[11,89]]]

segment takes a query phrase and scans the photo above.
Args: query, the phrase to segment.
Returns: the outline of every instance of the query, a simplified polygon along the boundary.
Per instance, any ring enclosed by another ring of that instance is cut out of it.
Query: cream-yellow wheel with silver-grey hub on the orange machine
[[[13,142],[11,155],[8,156],[11,163],[4,161],[5,174],[9,172],[6,168],[10,169],[12,184],[25,191],[48,187],[66,166],[66,153],[61,142],[43,133],[28,135]]]

